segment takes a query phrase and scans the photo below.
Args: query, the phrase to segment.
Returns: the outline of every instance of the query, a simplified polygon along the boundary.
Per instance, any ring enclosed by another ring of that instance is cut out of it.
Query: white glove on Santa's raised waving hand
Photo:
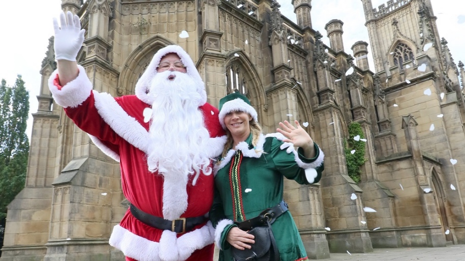
[[[66,16],[61,12],[60,24],[61,27],[58,26],[56,18],[53,18],[55,59],[76,61],[76,56],[84,42],[85,29],[81,29],[79,16],[73,16],[70,11],[66,13]]]

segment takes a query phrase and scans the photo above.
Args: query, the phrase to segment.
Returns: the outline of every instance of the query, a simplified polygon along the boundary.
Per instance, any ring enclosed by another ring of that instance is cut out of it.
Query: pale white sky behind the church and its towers
[[[21,74],[26,89],[29,90],[30,111],[36,113],[41,83],[41,64],[47,51],[48,39],[53,35],[53,17],[61,11],[61,0],[0,0],[0,79],[7,85],[15,83],[17,74]],[[433,12],[438,17],[437,25],[441,37],[448,42],[449,49],[456,63],[465,62],[465,0],[430,0]],[[296,22],[291,0],[278,0],[281,13]],[[377,8],[387,0],[372,0]],[[319,30],[323,42],[329,46],[329,39],[324,29],[332,19],[344,22],[343,42],[346,53],[357,41],[368,44],[368,32],[361,0],[313,0],[312,25]],[[371,49],[368,46],[369,66],[374,70]],[[27,135],[32,133],[32,116],[29,114]]]

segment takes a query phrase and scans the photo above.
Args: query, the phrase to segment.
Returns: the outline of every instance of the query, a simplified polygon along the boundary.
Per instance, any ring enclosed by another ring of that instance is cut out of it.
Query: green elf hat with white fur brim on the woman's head
[[[225,116],[232,111],[238,110],[242,110],[244,113],[249,114],[258,122],[257,111],[251,106],[249,99],[238,92],[234,92],[226,95],[220,100],[220,115],[218,117],[220,118],[220,124],[223,129],[226,130]]]

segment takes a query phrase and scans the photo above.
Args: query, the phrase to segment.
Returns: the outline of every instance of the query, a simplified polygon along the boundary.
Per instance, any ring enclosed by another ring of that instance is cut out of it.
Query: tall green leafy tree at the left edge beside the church
[[[7,205],[24,188],[29,154],[26,135],[29,93],[18,75],[15,85],[0,84],[0,221]]]

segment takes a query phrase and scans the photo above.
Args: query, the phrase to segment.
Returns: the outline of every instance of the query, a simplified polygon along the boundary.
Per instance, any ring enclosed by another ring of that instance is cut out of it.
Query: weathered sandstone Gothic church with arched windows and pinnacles
[[[429,0],[389,0],[378,9],[361,0],[371,54],[360,41],[353,56],[344,50],[342,21],[326,24],[330,46],[323,44],[312,28],[311,0],[293,0],[297,24],[270,0],[61,1],[81,17],[86,35],[78,62],[99,92],[133,94],[153,54],[177,44],[196,62],[211,104],[239,91],[265,132],[283,120],[309,123],[326,155],[324,175],[312,185],[286,181],[285,200],[310,258],[465,243],[458,78],[465,71],[440,38]],[[180,38],[183,30],[188,38]],[[53,102],[53,59],[51,43],[26,186],[8,206],[0,260],[123,260],[108,245],[128,207],[119,165]],[[351,122],[366,137],[359,183],[348,175],[344,150]]]

